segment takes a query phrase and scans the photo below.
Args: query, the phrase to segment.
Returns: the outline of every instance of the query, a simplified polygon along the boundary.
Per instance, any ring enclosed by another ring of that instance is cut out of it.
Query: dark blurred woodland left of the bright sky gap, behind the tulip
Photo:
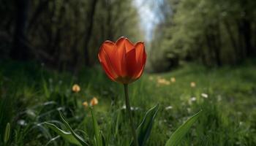
[[[12,37],[14,45],[1,52],[56,69],[92,66],[106,39],[142,37],[132,0],[3,0],[0,12],[0,37]]]

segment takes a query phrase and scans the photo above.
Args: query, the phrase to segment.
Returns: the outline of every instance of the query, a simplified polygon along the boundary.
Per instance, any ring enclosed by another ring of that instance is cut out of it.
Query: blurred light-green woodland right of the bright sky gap
[[[165,53],[158,58],[165,58],[169,68],[177,65],[170,56],[222,66],[256,55],[255,1],[165,1],[172,12],[157,26],[152,47],[162,45],[160,52]]]

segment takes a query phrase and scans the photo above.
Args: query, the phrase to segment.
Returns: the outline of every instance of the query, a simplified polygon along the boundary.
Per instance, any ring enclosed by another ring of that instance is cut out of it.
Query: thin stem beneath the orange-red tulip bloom
[[[133,123],[133,120],[132,120],[131,106],[129,105],[128,84],[124,84],[124,96],[125,96],[126,109],[129,115],[130,126],[132,128],[133,140],[135,142],[135,146],[139,146],[136,131],[135,131],[135,124]]]

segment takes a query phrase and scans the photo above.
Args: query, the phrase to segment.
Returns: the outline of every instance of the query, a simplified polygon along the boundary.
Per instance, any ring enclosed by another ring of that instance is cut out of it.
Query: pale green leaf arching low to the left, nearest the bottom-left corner
[[[63,137],[65,140],[67,140],[67,142],[70,142],[70,143],[75,144],[75,145],[82,146],[80,144],[80,142],[77,139],[75,139],[75,137],[70,132],[63,131],[52,123],[45,122],[45,124],[46,124],[46,126],[48,126],[48,128],[52,129],[57,134],[59,134],[59,136]]]

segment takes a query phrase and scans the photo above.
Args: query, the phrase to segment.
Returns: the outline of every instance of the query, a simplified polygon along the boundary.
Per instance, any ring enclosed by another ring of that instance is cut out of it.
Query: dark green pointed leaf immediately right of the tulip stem
[[[140,126],[138,126],[136,133],[137,133],[138,142],[140,146],[146,145],[146,140],[148,139],[151,133],[151,129],[154,123],[154,118],[156,117],[158,110],[159,110],[159,104],[157,104],[156,106],[148,110],[142,122],[140,123]],[[133,141],[132,141],[132,145],[134,145]]]

